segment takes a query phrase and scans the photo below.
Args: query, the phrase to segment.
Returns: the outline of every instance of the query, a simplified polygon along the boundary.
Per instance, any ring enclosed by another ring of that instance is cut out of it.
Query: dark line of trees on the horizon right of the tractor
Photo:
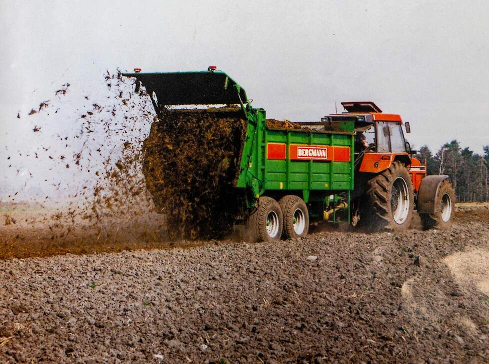
[[[415,157],[424,163],[427,174],[447,174],[457,201],[489,201],[489,145],[483,154],[468,147],[461,148],[457,140],[443,144],[433,154],[427,145],[419,148]]]

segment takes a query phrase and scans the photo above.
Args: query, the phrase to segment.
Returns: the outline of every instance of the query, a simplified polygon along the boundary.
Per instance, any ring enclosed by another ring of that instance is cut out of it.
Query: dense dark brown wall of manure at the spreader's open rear
[[[216,238],[242,206],[234,189],[245,135],[241,111],[166,111],[143,144],[143,173],[168,234]]]

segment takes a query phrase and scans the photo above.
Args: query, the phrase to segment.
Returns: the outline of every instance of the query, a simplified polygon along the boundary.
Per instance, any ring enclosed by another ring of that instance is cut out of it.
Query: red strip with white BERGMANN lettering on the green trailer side
[[[285,143],[267,143],[267,159],[286,159]],[[349,146],[332,145],[296,145],[292,144],[288,149],[288,158],[292,160],[333,160],[349,161]]]

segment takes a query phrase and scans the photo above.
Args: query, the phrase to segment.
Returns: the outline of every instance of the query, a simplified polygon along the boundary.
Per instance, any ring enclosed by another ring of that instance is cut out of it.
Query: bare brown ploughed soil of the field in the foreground
[[[459,205],[448,231],[49,257],[190,243],[120,225],[117,248],[34,230],[8,245],[17,217],[1,229],[0,362],[489,362],[486,211]],[[44,257],[15,257],[30,248]]]

